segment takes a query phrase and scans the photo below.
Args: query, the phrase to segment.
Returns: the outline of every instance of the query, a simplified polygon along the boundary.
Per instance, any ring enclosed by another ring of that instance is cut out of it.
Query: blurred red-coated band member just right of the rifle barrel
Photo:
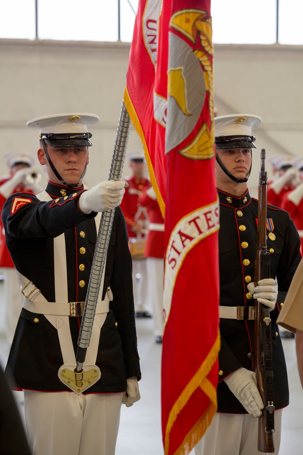
[[[277,160],[275,168],[278,169],[278,174],[268,185],[268,204],[281,207],[284,194],[297,186],[298,170],[293,167],[292,159],[288,156],[282,156]]]

